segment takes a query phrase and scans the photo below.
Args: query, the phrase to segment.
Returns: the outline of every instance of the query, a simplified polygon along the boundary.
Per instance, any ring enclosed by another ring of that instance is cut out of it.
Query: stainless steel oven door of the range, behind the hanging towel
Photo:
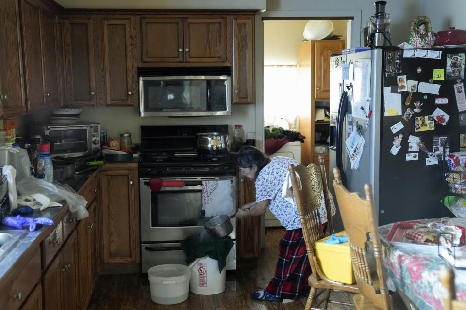
[[[151,191],[150,178],[140,179],[141,242],[182,241],[200,234],[208,218],[202,210],[202,181],[229,180],[232,185],[233,209],[236,212],[236,177],[163,178],[184,181],[183,187],[161,187]],[[146,184],[145,184],[146,183]],[[236,238],[236,221],[232,220],[232,239]]]

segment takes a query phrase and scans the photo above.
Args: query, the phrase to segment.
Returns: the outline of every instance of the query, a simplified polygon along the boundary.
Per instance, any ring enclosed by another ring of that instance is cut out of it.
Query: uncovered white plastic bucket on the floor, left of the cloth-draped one
[[[189,294],[191,269],[179,264],[165,264],[149,268],[147,277],[152,301],[173,305],[185,301]]]

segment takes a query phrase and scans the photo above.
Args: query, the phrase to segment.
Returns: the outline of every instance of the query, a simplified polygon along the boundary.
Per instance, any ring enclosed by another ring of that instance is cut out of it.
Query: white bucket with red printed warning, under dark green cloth
[[[210,257],[196,259],[189,265],[191,281],[189,289],[194,294],[213,295],[225,291],[225,269],[218,271],[218,261]]]

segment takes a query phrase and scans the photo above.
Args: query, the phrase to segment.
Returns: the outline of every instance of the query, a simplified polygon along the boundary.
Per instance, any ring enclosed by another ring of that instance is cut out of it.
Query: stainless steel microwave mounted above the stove
[[[228,75],[141,76],[140,116],[231,114]]]

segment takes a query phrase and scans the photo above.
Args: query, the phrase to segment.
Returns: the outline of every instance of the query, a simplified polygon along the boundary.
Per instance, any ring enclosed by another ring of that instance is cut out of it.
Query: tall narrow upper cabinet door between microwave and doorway
[[[254,103],[254,16],[233,17],[233,103]]]

